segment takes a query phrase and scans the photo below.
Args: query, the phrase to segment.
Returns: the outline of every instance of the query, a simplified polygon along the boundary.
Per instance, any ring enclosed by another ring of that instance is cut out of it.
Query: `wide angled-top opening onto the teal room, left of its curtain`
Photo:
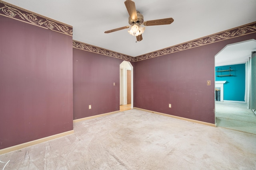
[[[248,102],[246,101],[246,88],[248,87],[246,64],[252,51],[256,51],[255,47],[256,40],[252,39],[226,45],[215,55],[215,120],[217,127],[256,134],[256,115],[252,109],[247,108]],[[226,71],[230,72],[230,67],[233,67],[233,73],[226,74]],[[222,74],[222,72],[224,73]]]

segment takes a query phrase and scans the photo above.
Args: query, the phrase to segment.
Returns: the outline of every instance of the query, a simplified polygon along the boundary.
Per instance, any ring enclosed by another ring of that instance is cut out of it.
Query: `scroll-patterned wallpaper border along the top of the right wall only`
[[[147,53],[144,55],[140,55],[136,57],[136,61],[142,61],[146,59],[150,59],[153,57],[158,57],[161,55],[166,55],[170,53],[175,53],[178,51],[183,51],[186,49],[191,49],[194,47],[199,47],[202,45],[210,44],[210,43],[216,43],[218,41],[223,41],[226,39],[234,38],[234,37],[239,37],[242,35],[250,34],[250,33],[255,33],[256,32],[256,22],[249,23],[246,25],[242,25],[240,27],[236,27],[233,29],[229,29],[226,31],[222,31],[220,33],[215,33],[212,35],[208,35],[206,37],[202,37],[199,39],[195,39],[192,41],[188,41],[186,43],[174,45],[172,47],[168,47],[162,50],[154,51],[152,53]]]

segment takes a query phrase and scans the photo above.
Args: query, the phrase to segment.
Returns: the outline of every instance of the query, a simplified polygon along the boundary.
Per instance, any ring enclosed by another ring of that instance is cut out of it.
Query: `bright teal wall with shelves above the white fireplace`
[[[230,68],[231,67],[231,68]],[[245,64],[236,64],[228,66],[218,66],[215,67],[215,71],[219,68],[220,70],[229,70],[232,76],[217,76],[229,74],[227,72],[216,72],[215,81],[225,81],[224,84],[224,100],[232,101],[243,101],[244,102],[244,93],[245,93]]]

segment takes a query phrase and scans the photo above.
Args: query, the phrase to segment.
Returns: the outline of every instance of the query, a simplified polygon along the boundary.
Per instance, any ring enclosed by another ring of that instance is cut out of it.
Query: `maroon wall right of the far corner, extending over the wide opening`
[[[256,33],[136,62],[134,107],[215,123],[214,56],[253,38]]]

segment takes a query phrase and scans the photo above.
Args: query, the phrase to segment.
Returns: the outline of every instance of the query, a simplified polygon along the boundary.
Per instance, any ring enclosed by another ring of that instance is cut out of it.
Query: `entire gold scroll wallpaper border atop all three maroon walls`
[[[47,28],[47,29],[50,29],[53,31],[60,32],[60,33],[64,33],[66,35],[70,35],[70,36],[73,35],[73,29],[72,29],[72,26],[70,26],[70,25],[52,20],[50,18],[46,18],[44,16],[40,16],[38,14],[24,10],[17,6],[13,6],[12,4],[8,4],[3,1],[0,1],[0,15],[6,16],[9,18],[14,18],[16,20],[20,20],[20,21],[23,21],[26,23],[44,27],[44,28]],[[182,43],[179,45],[174,45],[172,47],[168,47],[168,48],[165,48],[162,50],[154,51],[152,53],[147,53],[147,54],[140,55],[137,57],[131,57],[128,55],[124,55],[124,54],[117,53],[114,51],[102,49],[100,47],[88,45],[88,44],[81,43],[81,42],[74,41],[74,40],[73,40],[73,47],[77,48],[77,49],[82,49],[85,51],[90,51],[93,53],[106,55],[109,57],[115,57],[118,59],[136,62],[136,61],[142,61],[142,60],[146,60],[146,59],[150,59],[150,58],[154,58],[154,57],[159,57],[159,56],[170,54],[170,53],[175,53],[178,51],[183,51],[186,49],[191,49],[194,47],[199,47],[202,45],[207,45],[210,43],[215,43],[218,41],[223,41],[223,40],[234,38],[234,37],[239,37],[242,35],[247,35],[250,33],[256,33],[256,22],[242,25],[240,27],[222,31],[220,33],[202,37],[202,38],[192,40],[192,41],[189,41],[186,43]]]

